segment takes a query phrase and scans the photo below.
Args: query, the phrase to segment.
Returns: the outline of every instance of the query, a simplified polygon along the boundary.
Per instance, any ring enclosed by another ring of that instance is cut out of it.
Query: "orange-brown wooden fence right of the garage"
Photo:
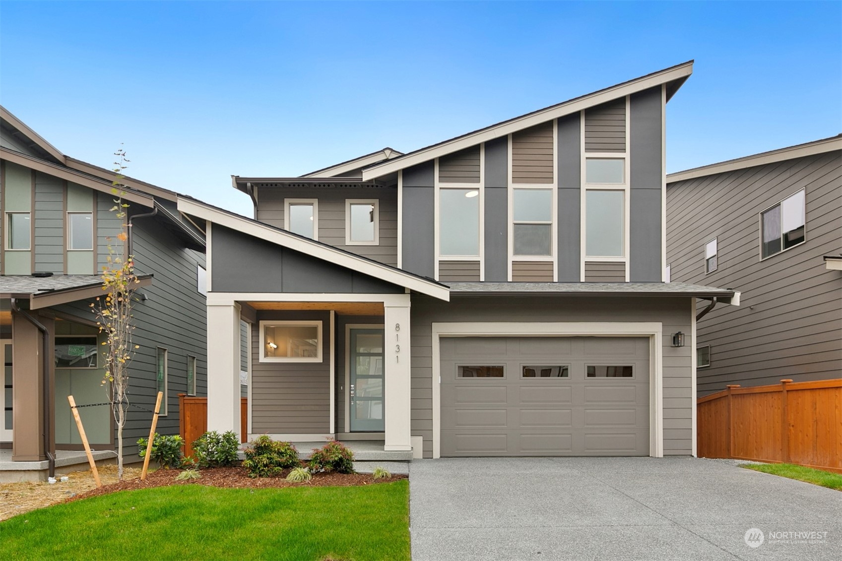
[[[727,386],[696,402],[697,452],[842,473],[842,379]]]

